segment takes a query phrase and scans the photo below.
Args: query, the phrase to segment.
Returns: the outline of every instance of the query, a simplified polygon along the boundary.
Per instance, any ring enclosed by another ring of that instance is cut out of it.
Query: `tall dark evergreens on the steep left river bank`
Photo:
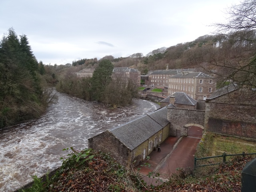
[[[10,28],[0,41],[0,128],[39,117],[52,102],[45,69],[26,35]]]

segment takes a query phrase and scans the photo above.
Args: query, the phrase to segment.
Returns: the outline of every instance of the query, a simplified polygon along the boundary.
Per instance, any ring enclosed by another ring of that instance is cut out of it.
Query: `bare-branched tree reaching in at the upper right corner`
[[[227,15],[226,22],[215,24],[221,39],[204,68],[220,82],[256,87],[256,1],[244,0],[230,7]]]

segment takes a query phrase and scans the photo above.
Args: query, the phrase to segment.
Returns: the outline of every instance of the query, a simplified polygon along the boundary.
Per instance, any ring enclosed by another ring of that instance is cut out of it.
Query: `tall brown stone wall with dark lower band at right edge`
[[[206,100],[206,130],[240,137],[256,138],[256,93],[240,88]]]

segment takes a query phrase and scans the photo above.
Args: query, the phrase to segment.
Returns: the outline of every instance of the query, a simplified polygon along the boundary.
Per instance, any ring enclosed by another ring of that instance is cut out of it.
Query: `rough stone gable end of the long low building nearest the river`
[[[111,156],[124,166],[130,165],[130,150],[116,139],[109,131],[102,132],[88,139],[88,147],[102,152],[110,152]]]

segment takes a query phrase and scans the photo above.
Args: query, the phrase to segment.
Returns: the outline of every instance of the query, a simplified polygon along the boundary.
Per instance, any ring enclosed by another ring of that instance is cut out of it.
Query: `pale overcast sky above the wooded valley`
[[[148,54],[213,32],[239,0],[0,0],[0,37],[25,34],[37,60]]]

